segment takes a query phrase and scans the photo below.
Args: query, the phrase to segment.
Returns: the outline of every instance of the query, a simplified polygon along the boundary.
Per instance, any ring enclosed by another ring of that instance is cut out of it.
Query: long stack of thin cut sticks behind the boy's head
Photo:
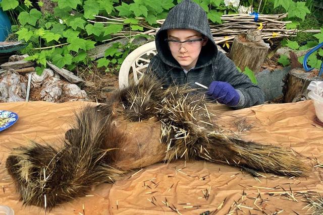
[[[282,21],[288,16],[288,13],[277,14],[277,15],[263,15],[259,14],[257,21],[255,21],[255,15],[249,14],[230,14],[223,15],[221,20],[222,24],[214,25],[214,23],[209,23],[211,27],[211,32],[213,35],[214,41],[216,44],[223,42],[232,42],[236,35],[246,32],[249,29],[257,29],[260,27],[260,23],[263,26],[261,31],[261,39],[268,40],[270,38],[280,38],[280,37],[294,37],[296,33],[299,32],[297,29],[286,29],[286,24],[291,23],[291,21]],[[124,24],[125,18],[119,17],[102,17],[95,16],[97,21],[87,20],[91,23],[103,23],[103,24]],[[165,19],[157,20],[157,25],[151,26],[145,22],[144,18],[137,17],[139,20],[139,26],[143,27],[146,31],[125,31],[122,30],[116,34],[112,35],[111,39],[104,41],[112,41],[115,39],[133,37],[134,35],[146,34],[146,35],[155,35],[159,30],[160,26],[164,23]],[[100,21],[98,21],[100,20]],[[159,25],[159,26],[158,26]],[[319,33],[320,30],[302,30],[303,32],[312,32]],[[104,42],[103,41],[103,42]]]

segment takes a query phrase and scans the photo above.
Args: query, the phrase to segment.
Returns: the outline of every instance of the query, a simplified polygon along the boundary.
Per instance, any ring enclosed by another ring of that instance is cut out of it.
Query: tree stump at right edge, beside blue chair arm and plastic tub
[[[308,100],[307,87],[311,81],[323,81],[323,78],[317,77],[318,70],[306,73],[303,68],[294,68],[289,71],[283,87],[284,102],[299,102]]]

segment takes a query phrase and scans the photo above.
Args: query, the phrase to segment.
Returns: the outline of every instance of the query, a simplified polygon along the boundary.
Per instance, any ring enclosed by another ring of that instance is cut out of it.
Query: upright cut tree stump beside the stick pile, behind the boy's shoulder
[[[269,44],[261,39],[248,41],[246,34],[240,34],[233,40],[229,57],[241,70],[248,66],[254,73],[258,73],[269,48]]]

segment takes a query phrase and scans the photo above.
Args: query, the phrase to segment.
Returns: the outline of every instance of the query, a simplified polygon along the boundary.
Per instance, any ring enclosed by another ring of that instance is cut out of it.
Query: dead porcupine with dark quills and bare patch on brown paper
[[[287,150],[220,132],[204,97],[192,89],[162,88],[163,82],[143,76],[105,104],[76,113],[63,147],[32,142],[14,149],[6,167],[23,203],[43,207],[46,196],[50,209],[131,169],[183,156],[286,176],[308,171]]]

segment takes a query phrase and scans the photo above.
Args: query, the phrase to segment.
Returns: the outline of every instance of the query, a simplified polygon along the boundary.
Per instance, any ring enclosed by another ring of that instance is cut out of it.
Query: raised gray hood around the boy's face
[[[208,38],[207,44],[201,49],[195,68],[209,65],[213,57],[217,56],[218,48],[213,40],[206,13],[191,0],[183,0],[169,12],[155,37],[156,49],[160,59],[170,66],[181,68],[172,56],[167,42],[165,42],[168,29],[193,29]]]

